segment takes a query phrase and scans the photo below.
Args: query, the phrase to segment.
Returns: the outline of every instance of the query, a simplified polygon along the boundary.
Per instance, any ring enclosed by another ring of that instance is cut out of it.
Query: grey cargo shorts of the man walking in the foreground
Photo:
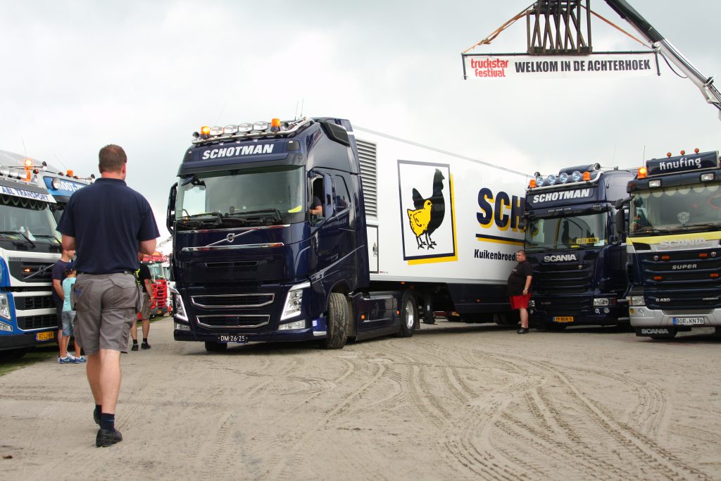
[[[74,286],[75,335],[86,354],[100,349],[128,352],[139,286],[132,273],[79,273]]]

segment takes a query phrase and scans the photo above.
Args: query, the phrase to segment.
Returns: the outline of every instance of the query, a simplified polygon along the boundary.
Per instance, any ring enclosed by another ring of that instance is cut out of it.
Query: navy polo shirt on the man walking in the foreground
[[[72,195],[58,231],[75,237],[75,269],[89,274],[136,270],[138,243],[160,237],[148,200],[108,177]]]

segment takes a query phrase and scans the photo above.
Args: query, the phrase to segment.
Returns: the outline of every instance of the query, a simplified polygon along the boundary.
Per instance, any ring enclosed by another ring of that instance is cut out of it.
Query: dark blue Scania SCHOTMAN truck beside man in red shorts
[[[560,330],[629,322],[626,247],[616,236],[614,211],[633,175],[593,164],[531,180],[526,256],[534,268],[533,324]]]

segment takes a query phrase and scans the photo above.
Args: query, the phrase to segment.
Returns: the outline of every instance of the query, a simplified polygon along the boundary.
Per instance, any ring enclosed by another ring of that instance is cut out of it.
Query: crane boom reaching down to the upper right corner
[[[628,4],[625,0],[606,0],[611,9],[614,10],[619,17],[629,22],[634,30],[640,33],[645,39],[653,44],[653,47],[665,58],[668,58],[673,65],[684,72],[689,80],[701,90],[704,99],[709,104],[719,110],[719,118],[721,119],[721,93],[714,86],[713,77],[707,77],[701,74],[691,62],[679,52],[671,42],[665,39],[663,35],[656,30],[642,15]]]

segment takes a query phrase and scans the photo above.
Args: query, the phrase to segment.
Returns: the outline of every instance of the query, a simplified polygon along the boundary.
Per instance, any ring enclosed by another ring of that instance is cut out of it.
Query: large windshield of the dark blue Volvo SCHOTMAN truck
[[[177,228],[220,229],[304,219],[304,169],[233,169],[181,178]],[[300,218],[298,218],[300,214]]]

